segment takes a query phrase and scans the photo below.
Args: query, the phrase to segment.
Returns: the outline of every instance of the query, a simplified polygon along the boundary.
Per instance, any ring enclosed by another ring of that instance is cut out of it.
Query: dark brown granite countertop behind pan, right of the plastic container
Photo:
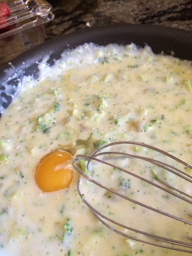
[[[48,0],[55,19],[46,40],[79,29],[114,24],[155,24],[192,31],[192,0]]]

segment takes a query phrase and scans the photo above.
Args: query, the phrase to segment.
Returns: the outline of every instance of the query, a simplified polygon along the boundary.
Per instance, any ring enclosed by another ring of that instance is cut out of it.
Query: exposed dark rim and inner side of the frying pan
[[[38,63],[49,56],[47,63],[61,57],[61,53],[84,43],[107,45],[135,43],[149,45],[154,53],[173,55],[192,60],[192,32],[170,27],[142,24],[115,25],[83,29],[63,35],[24,52],[0,68],[0,117],[22,86],[24,76],[38,78]]]

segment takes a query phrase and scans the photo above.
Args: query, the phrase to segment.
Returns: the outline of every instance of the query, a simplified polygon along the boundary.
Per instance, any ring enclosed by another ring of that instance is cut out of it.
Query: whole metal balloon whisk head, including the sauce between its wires
[[[85,178],[77,184],[83,202],[128,243],[192,253],[192,166],[134,141],[77,155],[73,166]]]

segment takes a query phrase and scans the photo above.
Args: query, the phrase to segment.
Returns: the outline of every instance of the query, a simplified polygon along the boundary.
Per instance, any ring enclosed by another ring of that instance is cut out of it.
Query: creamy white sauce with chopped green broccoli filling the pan
[[[53,150],[66,150],[75,157],[120,140],[160,147],[191,164],[191,63],[154,55],[147,46],[85,44],[64,52],[52,67],[42,61],[39,69],[39,79],[26,77],[18,97],[0,120],[0,255],[180,256],[180,252],[121,237],[101,224],[78,195],[77,171],[68,189],[47,193],[39,189],[34,176],[40,159]],[[128,163],[131,168],[134,164],[134,160]],[[150,178],[156,174],[156,170],[150,171]],[[99,175],[101,180],[107,177],[112,188],[123,189],[154,207],[161,204],[162,192],[142,182],[115,171]],[[191,194],[191,184],[166,172],[158,175]],[[94,198],[105,211],[109,198],[96,190]],[[122,216],[124,209],[111,201]],[[167,201],[170,209],[166,210],[175,213],[177,202]],[[128,216],[135,228],[170,233],[174,238],[192,235],[190,227],[182,234],[182,223],[175,229],[171,221],[157,221],[156,215],[132,208],[120,221]],[[177,214],[190,215],[191,220],[189,205],[178,208]]]

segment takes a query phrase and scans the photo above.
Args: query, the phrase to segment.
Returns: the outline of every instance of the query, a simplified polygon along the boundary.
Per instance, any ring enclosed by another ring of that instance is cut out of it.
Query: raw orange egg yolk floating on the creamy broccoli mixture
[[[72,155],[66,151],[54,151],[41,159],[37,165],[35,181],[44,192],[68,188],[73,179],[73,171],[66,161]]]

